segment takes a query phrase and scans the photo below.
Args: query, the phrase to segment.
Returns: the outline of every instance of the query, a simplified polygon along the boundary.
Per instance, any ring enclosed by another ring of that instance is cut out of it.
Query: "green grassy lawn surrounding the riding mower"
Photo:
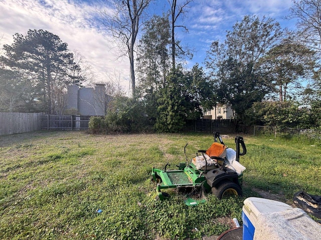
[[[235,148],[234,136],[224,138]],[[291,200],[298,190],[321,195],[321,147],[303,138],[244,136],[244,197],[195,207],[169,190],[155,201],[151,167],[176,168],[212,143],[212,134],[90,135],[42,131],[0,136],[1,239],[191,239],[241,222],[252,188]],[[97,212],[98,209],[102,211]]]

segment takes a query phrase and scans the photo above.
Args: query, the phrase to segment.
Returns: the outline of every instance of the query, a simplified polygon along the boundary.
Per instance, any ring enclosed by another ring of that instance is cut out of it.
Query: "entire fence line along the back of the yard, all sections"
[[[81,130],[88,129],[90,116],[86,115],[48,115],[43,113],[0,112],[0,135],[9,135],[36,130]],[[187,122],[186,131],[201,132],[243,132],[246,134],[273,133],[270,126],[237,125],[235,119],[198,119]],[[153,129],[155,119],[148,119],[146,126]],[[320,130],[283,128],[281,132],[290,134],[321,134]]]

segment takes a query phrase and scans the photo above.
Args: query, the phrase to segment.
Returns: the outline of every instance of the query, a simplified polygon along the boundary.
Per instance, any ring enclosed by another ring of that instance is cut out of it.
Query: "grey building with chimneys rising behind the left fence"
[[[68,86],[65,113],[70,115],[105,115],[108,103],[105,84],[93,87]]]

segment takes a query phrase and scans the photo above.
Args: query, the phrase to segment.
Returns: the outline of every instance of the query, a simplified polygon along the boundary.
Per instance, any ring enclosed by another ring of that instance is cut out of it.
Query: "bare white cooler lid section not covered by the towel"
[[[292,207],[286,203],[260,197],[248,197],[244,200],[244,207],[257,217],[259,213],[285,211]]]

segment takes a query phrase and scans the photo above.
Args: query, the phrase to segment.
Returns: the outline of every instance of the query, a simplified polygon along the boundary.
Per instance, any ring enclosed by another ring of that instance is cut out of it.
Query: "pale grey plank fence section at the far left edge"
[[[40,130],[42,113],[0,112],[0,135]]]

